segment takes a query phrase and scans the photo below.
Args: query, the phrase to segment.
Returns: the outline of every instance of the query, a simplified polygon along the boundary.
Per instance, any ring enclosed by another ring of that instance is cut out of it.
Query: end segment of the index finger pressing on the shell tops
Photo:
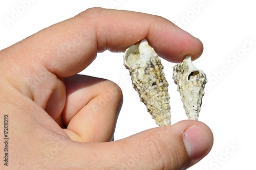
[[[167,22],[163,21],[163,23],[165,23],[166,28],[169,25],[169,29],[166,29],[162,33],[151,34],[151,39],[154,39],[154,41],[149,41],[150,45],[154,47],[161,58],[169,62],[179,63],[187,55],[190,55],[192,60],[196,60],[202,55],[203,43],[199,38],[178,28],[168,20]],[[159,28],[156,28],[156,30],[159,30]],[[157,37],[152,38],[155,35]]]

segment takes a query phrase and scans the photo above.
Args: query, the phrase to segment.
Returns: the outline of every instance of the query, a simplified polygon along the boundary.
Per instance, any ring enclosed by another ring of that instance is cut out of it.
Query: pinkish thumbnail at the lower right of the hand
[[[184,132],[183,141],[190,159],[205,156],[209,149],[210,139],[204,130],[191,126]]]

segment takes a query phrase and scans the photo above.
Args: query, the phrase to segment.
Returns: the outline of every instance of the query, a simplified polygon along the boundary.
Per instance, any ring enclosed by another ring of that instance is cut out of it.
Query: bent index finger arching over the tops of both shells
[[[21,53],[10,56],[20,63],[43,65],[57,77],[69,77],[86,68],[98,52],[122,52],[143,38],[172,62],[186,55],[198,58],[203,51],[199,39],[160,16],[92,8],[15,44],[10,53]]]

